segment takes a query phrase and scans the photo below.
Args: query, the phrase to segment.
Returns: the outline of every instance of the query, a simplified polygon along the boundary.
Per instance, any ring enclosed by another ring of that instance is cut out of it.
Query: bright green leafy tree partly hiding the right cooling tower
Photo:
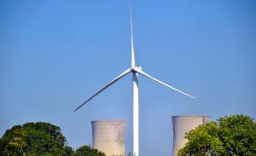
[[[256,123],[245,115],[218,118],[190,130],[185,136],[189,142],[179,150],[184,155],[256,155]]]

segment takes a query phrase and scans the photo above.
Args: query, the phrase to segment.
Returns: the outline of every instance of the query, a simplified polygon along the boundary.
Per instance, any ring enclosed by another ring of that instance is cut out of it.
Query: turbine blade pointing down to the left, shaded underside
[[[112,81],[110,81],[108,84],[106,84],[104,87],[102,87],[101,90],[98,90],[96,92],[96,94],[90,96],[89,99],[87,99],[86,101],[84,101],[84,103],[82,103],[79,107],[77,107],[73,112],[76,112],[80,107],[83,107],[85,103],[87,103],[88,101],[90,101],[92,98],[94,98],[96,95],[100,94],[103,90],[106,90],[110,85],[116,83],[119,79],[125,77],[125,75],[127,75],[129,72],[131,72],[131,69],[127,69],[125,72],[119,74],[118,77],[114,78]]]

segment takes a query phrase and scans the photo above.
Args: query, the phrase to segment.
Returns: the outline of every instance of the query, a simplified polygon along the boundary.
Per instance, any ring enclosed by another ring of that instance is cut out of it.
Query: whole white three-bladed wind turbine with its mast
[[[85,103],[87,103],[88,101],[90,101],[91,99],[93,99],[96,95],[100,94],[103,90],[106,90],[109,86],[111,86],[112,84],[116,83],[117,81],[119,81],[119,79],[125,77],[125,75],[127,75],[128,73],[132,72],[132,153],[135,156],[139,155],[139,99],[138,99],[138,73],[142,74],[143,76],[147,77],[147,78],[151,78],[154,81],[165,85],[166,87],[171,88],[172,90],[176,90],[177,92],[183,94],[183,95],[187,95],[191,98],[194,98],[194,96],[189,95],[181,90],[177,90],[176,88],[172,87],[169,84],[163,83],[160,80],[151,77],[150,75],[148,75],[148,73],[143,72],[142,67],[141,66],[136,66],[135,65],[135,58],[134,58],[134,48],[133,48],[133,30],[132,30],[132,17],[131,17],[131,3],[130,4],[130,22],[131,22],[131,66],[130,68],[128,68],[127,70],[125,70],[125,72],[122,72],[121,74],[119,74],[118,77],[113,78],[112,81],[110,81],[108,84],[106,84],[105,86],[102,87],[101,90],[98,90],[96,92],[96,94],[91,95],[89,99],[87,99],[86,101],[84,101],[84,103],[82,103],[79,107],[77,107],[74,112],[76,112],[80,107],[83,107]]]

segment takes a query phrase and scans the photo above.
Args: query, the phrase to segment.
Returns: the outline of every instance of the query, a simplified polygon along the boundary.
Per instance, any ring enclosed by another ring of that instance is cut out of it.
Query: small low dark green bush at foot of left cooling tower
[[[89,146],[79,147],[75,151],[75,156],[106,156],[105,153],[98,151],[97,149],[90,148]]]

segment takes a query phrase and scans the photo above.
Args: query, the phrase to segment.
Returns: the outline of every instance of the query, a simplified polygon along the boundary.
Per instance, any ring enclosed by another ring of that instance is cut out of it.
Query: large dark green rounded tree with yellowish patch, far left
[[[6,130],[0,139],[0,155],[72,155],[61,129],[49,123],[26,123]]]

